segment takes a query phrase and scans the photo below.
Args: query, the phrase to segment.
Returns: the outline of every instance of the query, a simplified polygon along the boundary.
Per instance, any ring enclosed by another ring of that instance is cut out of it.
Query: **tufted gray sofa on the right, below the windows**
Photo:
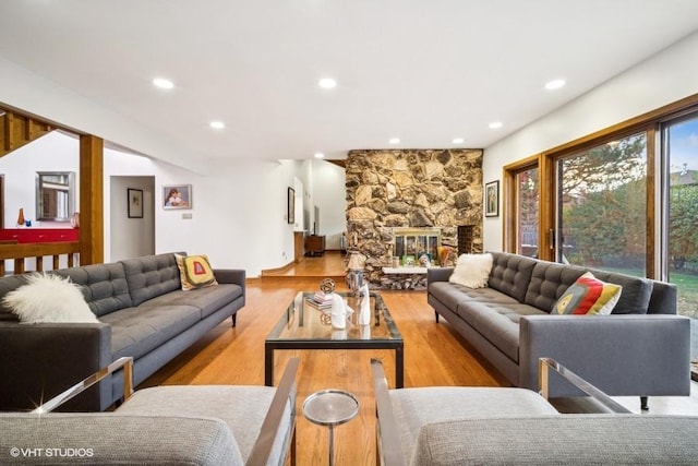
[[[672,284],[591,271],[623,286],[610,315],[556,315],[551,309],[586,268],[492,252],[485,288],[428,270],[428,302],[513,385],[535,390],[538,360],[554,358],[612,396],[688,395],[690,322],[676,314]],[[578,392],[554,382],[558,396]]]

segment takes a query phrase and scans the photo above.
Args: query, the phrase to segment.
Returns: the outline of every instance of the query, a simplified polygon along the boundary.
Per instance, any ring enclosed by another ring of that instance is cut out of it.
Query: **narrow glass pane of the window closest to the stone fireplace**
[[[516,252],[538,256],[540,178],[538,167],[519,171],[516,179]]]

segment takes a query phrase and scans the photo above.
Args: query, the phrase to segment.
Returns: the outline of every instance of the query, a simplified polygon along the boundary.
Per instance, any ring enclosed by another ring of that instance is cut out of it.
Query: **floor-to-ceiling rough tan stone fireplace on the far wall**
[[[420,250],[437,263],[437,246],[482,252],[481,150],[351,151],[346,175],[347,251],[372,288],[425,285],[423,274],[384,273],[395,258],[401,267]]]

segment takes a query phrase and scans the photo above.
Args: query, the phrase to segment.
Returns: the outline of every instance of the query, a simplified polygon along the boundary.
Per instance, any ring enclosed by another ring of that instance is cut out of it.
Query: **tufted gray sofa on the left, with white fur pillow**
[[[52,272],[82,288],[98,323],[21,324],[0,310],[0,410],[34,408],[116,359],[134,359],[139,384],[244,306],[245,273],[214,271],[218,286],[181,289],[174,253]],[[26,283],[0,278],[0,299]],[[3,312],[4,311],[4,312]],[[122,396],[122,374],[65,405],[105,410]]]

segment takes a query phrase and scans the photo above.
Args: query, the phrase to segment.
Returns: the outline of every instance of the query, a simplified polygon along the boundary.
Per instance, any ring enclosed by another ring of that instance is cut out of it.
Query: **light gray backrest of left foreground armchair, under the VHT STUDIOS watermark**
[[[0,432],[3,464],[244,464],[228,426],[212,417],[0,414]]]

